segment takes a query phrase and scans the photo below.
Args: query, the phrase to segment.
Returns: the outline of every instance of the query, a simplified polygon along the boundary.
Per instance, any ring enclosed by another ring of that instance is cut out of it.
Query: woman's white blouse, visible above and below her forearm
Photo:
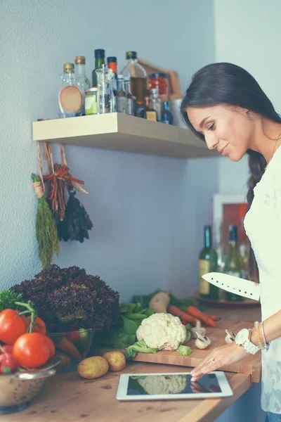
[[[281,309],[281,146],[254,188],[244,227],[259,267],[264,320]],[[261,352],[261,362],[261,408],[281,414],[281,338]]]

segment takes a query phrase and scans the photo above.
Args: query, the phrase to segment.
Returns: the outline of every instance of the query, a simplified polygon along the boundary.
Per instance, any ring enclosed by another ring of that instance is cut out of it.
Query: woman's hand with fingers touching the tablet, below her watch
[[[236,343],[217,347],[191,371],[192,378],[190,381],[197,381],[204,373],[216,371],[224,365],[234,364],[247,356],[249,356],[249,353],[244,350],[244,347],[237,346]]]

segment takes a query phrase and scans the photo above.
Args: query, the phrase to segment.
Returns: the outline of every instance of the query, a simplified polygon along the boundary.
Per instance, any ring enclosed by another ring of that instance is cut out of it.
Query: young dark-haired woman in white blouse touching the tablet
[[[181,114],[209,149],[235,162],[248,155],[244,226],[251,241],[249,279],[260,283],[263,321],[211,352],[193,369],[192,381],[261,349],[261,407],[267,422],[281,421],[281,117],[254,77],[230,63],[195,73]]]

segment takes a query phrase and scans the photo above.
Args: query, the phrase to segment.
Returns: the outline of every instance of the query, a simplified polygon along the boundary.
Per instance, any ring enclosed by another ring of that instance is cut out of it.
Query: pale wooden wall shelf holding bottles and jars
[[[109,113],[33,122],[33,140],[174,158],[215,157],[189,129]]]

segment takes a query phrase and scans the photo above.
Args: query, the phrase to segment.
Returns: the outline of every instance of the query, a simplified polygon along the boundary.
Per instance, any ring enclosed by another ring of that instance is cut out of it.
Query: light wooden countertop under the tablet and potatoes
[[[260,319],[259,308],[210,309],[223,318],[246,321]],[[210,312],[208,309],[208,312]],[[245,310],[246,311],[246,310]],[[76,372],[58,374],[46,381],[39,395],[25,411],[1,416],[3,422],[213,422],[251,387],[247,374],[226,373],[233,396],[223,399],[119,402],[116,392],[120,373],[185,372],[183,366],[129,362],[124,371],[108,372],[96,380],[79,378]]]

